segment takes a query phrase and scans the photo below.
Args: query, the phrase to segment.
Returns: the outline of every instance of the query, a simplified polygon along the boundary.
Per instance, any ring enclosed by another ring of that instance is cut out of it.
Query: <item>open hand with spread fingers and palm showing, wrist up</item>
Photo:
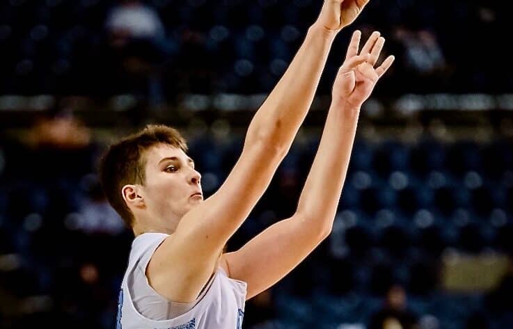
[[[361,32],[355,31],[347,49],[347,56],[340,67],[333,83],[333,100],[338,104],[349,104],[359,109],[368,99],[380,77],[390,68],[394,56],[388,56],[381,66],[374,69],[385,38],[374,32],[363,46],[358,55]]]

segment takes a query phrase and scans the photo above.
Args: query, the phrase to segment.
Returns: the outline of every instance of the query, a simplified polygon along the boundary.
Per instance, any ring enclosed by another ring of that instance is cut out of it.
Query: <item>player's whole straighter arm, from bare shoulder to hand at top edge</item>
[[[198,296],[223,246],[258,202],[289,150],[310,108],[333,38],[367,1],[324,2],[292,63],[251,121],[242,154],[226,182],[185,214],[152,256],[147,275],[159,294],[183,303]]]

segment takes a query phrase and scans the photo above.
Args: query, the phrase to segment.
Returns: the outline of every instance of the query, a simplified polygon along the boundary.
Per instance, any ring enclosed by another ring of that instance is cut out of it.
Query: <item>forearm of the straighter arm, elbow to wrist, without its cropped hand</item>
[[[313,102],[336,33],[314,24],[274,90],[251,120],[246,145],[265,138],[288,150]]]

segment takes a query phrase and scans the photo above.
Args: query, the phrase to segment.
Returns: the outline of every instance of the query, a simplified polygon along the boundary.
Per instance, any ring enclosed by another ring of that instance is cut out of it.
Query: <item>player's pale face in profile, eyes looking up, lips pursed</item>
[[[179,148],[166,144],[151,147],[146,152],[145,174],[145,204],[160,218],[182,218],[203,202],[201,175]]]

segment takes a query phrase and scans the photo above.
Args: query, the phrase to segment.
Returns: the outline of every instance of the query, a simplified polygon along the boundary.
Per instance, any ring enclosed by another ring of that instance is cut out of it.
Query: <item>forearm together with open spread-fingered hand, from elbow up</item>
[[[360,32],[356,31],[347,51],[346,63],[357,56],[359,41]],[[333,99],[326,125],[297,208],[298,214],[308,218],[307,225],[322,227],[325,232],[331,232],[335,218],[361,105],[394,60],[393,56],[388,56],[381,66],[374,69],[384,42],[378,32],[372,33],[361,50],[362,54],[370,53],[368,61],[356,69],[342,65],[333,83]]]

